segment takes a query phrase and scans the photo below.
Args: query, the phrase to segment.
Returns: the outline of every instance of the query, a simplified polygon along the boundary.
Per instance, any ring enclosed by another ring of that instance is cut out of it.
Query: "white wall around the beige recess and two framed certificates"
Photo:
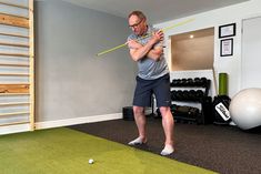
[[[261,1],[251,0],[248,2],[230,6],[187,18],[172,20],[163,23],[157,23],[157,28],[165,28],[178,22],[182,22],[188,19],[194,19],[192,22],[177,27],[172,30],[165,31],[167,42],[170,35],[211,28],[214,27],[214,71],[215,79],[218,80],[218,73],[227,72],[229,74],[229,95],[233,96],[240,91],[241,86],[241,25],[242,20],[253,16],[261,16]],[[237,34],[233,37],[233,55],[232,57],[220,57],[220,39],[219,39],[219,25],[228,23],[237,23]],[[170,55],[170,43],[167,43],[165,48],[168,62],[171,61]],[[201,74],[207,76],[211,75],[211,71],[202,71]],[[190,76],[191,72],[183,72],[184,78]],[[212,73],[213,74],[213,73]],[[175,75],[175,72],[172,72]],[[179,74],[180,75],[180,74]],[[212,85],[213,88],[213,85]]]

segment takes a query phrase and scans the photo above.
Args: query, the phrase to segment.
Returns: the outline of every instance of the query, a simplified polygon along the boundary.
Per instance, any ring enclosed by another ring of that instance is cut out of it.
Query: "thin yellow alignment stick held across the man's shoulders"
[[[192,22],[193,20],[194,20],[194,19],[189,19],[189,20],[185,20],[185,21],[175,23],[175,24],[173,24],[173,25],[170,25],[170,27],[167,27],[167,28],[161,29],[161,31],[165,32],[167,30],[170,30],[170,29],[173,29],[173,28],[183,25],[183,24],[185,24],[185,23]],[[144,35],[144,37],[138,39],[137,41],[139,41],[139,40],[141,40],[141,39],[144,39],[144,38],[148,38],[148,37],[150,37],[151,34],[152,34],[152,33],[147,34],[147,35]],[[128,44],[128,43],[123,43],[123,44],[117,45],[117,47],[114,47],[114,48],[112,48],[112,49],[102,51],[102,52],[98,53],[97,57],[100,57],[100,55],[103,55],[103,54],[109,53],[109,52],[111,52],[111,51],[114,51],[114,50],[118,50],[118,49],[120,49],[120,48],[123,48],[123,47],[126,47],[127,44]]]

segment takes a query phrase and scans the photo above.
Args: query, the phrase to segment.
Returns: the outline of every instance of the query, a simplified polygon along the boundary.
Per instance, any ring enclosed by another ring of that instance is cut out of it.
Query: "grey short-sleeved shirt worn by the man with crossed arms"
[[[151,34],[152,31],[157,31],[157,30],[153,29],[152,27],[149,27],[147,34]],[[142,37],[135,35],[134,33],[128,37],[128,41],[138,40],[138,42],[141,44],[145,44],[150,39],[151,37],[142,38]],[[159,42],[154,47],[158,47],[160,44],[161,43]],[[129,49],[132,49],[132,48],[129,48]],[[154,61],[148,57],[140,59],[138,61],[138,69],[139,69],[138,76],[144,80],[154,80],[169,73],[168,64],[165,62],[163,54],[161,55],[159,61]]]

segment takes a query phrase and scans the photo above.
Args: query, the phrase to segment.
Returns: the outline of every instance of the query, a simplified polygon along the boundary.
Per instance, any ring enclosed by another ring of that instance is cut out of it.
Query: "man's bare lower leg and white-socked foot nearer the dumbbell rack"
[[[160,112],[162,115],[162,126],[165,134],[164,149],[161,151],[161,155],[170,155],[174,152],[173,146],[173,127],[174,120],[169,106],[161,106]]]

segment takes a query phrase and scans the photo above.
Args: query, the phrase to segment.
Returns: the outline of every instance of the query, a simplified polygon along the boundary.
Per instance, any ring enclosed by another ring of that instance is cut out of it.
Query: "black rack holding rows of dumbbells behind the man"
[[[171,82],[171,112],[177,122],[212,123],[212,98],[209,96],[211,80],[207,78],[173,79]],[[188,90],[187,90],[188,89]],[[194,102],[201,104],[201,110],[193,106],[173,104],[178,102]]]

